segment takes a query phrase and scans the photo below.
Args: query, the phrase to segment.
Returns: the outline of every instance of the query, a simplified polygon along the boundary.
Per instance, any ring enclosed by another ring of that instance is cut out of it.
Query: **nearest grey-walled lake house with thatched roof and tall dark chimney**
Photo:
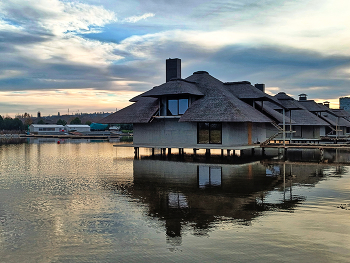
[[[134,147],[258,146],[267,139],[267,129],[278,132],[272,123],[276,121],[274,116],[280,115],[262,113],[264,101],[280,104],[258,88],[247,81],[224,83],[206,71],[182,79],[181,60],[167,59],[164,84],[132,98],[132,105],[101,123],[132,123]]]

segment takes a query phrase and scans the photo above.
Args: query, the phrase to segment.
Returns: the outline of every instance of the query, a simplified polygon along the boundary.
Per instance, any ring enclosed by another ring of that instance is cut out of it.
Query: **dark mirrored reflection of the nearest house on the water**
[[[181,244],[183,231],[207,235],[223,220],[249,225],[264,211],[292,211],[304,200],[292,194],[292,185],[316,184],[325,167],[145,159],[134,160],[133,165],[134,184],[127,189],[128,194],[148,205],[149,216],[165,222],[167,241],[174,245]],[[278,198],[267,199],[274,191]]]

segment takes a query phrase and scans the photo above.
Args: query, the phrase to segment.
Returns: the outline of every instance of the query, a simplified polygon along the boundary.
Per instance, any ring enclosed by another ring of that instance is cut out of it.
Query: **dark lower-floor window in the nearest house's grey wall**
[[[216,122],[198,123],[198,143],[199,144],[221,144],[222,142],[222,125]]]

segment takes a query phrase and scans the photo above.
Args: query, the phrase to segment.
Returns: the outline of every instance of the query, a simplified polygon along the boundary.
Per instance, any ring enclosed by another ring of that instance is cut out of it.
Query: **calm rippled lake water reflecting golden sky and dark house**
[[[0,262],[349,262],[350,154],[301,155],[220,164],[134,160],[109,142],[0,145]]]

